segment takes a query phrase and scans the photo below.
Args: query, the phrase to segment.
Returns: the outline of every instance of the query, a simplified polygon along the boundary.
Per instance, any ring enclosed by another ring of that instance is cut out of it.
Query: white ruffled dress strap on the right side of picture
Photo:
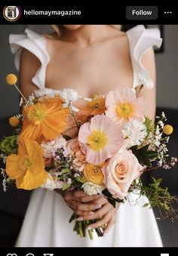
[[[153,82],[149,76],[149,70],[142,64],[142,57],[153,46],[161,47],[162,39],[157,28],[146,29],[143,25],[138,25],[129,29],[127,38],[130,45],[130,59],[133,66],[133,89],[138,85],[153,87]]]

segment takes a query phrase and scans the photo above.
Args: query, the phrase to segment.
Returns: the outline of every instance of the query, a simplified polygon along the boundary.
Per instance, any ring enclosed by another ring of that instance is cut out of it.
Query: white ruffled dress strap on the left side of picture
[[[22,35],[11,34],[9,36],[11,52],[15,55],[14,61],[17,70],[20,69],[20,54],[23,48],[34,54],[41,62],[41,67],[32,78],[32,82],[38,88],[45,88],[46,67],[50,61],[50,57],[46,50],[46,40],[43,35],[39,35],[30,29],[26,29]]]

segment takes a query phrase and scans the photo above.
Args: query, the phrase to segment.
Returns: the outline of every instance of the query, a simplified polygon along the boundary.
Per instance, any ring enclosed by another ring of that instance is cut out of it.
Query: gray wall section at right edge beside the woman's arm
[[[164,26],[164,53],[156,54],[157,105],[178,109],[178,25]]]

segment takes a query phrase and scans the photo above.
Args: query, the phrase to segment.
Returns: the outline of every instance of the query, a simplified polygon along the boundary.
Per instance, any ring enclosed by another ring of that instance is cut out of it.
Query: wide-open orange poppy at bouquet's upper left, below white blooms
[[[59,136],[66,127],[69,109],[63,108],[60,97],[44,98],[41,102],[23,109],[24,121],[21,137],[30,140],[52,140]]]

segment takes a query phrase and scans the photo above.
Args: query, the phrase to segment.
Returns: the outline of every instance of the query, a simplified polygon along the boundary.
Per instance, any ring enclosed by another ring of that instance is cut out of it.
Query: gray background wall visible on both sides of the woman
[[[50,26],[29,25],[36,32],[49,32]],[[5,84],[8,72],[15,72],[14,57],[8,45],[10,33],[23,33],[26,25],[0,25],[0,116],[18,113],[18,93]],[[164,108],[178,109],[178,25],[164,26],[164,53],[156,54],[157,104]]]

